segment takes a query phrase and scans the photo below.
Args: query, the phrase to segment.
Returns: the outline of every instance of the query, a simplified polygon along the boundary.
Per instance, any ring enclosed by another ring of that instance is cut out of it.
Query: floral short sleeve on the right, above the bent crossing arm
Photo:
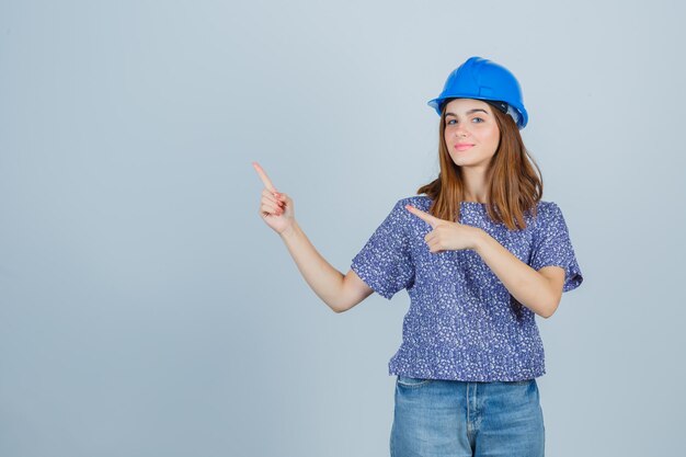
[[[550,265],[563,267],[562,292],[575,289],[583,282],[583,275],[576,262],[562,210],[550,202],[547,207],[541,208],[540,216],[534,231],[534,249],[529,264],[536,271]]]

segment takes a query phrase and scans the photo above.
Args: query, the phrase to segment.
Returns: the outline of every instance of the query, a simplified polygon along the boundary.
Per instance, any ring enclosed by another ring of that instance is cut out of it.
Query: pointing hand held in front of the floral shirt
[[[483,232],[483,230],[478,227],[438,219],[412,205],[405,205],[405,209],[428,222],[433,228],[433,230],[424,237],[430,252],[476,249],[479,237],[481,232]]]

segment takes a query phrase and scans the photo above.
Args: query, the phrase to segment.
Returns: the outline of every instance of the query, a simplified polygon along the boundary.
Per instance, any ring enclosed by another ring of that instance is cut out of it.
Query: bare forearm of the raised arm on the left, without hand
[[[294,221],[290,229],[281,233],[281,238],[288,248],[300,274],[333,311],[339,312],[343,289],[343,273],[331,266],[327,260],[315,249],[298,222]]]

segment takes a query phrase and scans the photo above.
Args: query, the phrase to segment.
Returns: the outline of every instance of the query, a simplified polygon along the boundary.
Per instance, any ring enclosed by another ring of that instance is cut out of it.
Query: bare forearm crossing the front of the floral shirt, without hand
[[[481,229],[475,251],[517,301],[544,318],[554,311],[548,279]]]

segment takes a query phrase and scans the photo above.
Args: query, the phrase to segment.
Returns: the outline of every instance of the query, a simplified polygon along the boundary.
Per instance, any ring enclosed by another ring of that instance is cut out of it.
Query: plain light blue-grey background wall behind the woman
[[[519,79],[584,273],[538,320],[547,453],[678,454],[685,12],[2,0],[0,455],[388,455],[407,293],[330,311],[251,162],[345,273],[435,178],[426,101],[473,55]]]

